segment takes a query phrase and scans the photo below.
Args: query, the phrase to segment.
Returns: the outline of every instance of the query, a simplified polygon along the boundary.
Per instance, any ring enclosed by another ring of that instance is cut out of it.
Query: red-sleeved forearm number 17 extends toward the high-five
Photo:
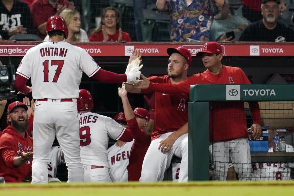
[[[126,74],[117,74],[102,68],[94,74],[93,78],[103,83],[122,83],[127,81]]]

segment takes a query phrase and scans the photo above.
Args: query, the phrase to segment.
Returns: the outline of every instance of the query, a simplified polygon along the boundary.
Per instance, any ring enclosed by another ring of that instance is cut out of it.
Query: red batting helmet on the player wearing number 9
[[[78,111],[92,110],[94,108],[93,98],[88,90],[80,89],[79,98],[77,100]]]

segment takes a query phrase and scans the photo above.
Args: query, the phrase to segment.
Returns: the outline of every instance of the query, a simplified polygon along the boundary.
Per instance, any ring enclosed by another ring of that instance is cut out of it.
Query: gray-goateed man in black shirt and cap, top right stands
[[[263,19],[250,24],[242,32],[239,41],[294,41],[294,30],[278,22],[281,14],[280,0],[263,0],[261,14]]]

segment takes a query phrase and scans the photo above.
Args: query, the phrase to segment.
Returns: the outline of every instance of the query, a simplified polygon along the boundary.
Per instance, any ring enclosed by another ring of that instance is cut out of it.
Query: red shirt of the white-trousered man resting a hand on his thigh
[[[149,77],[153,83],[168,83],[168,75],[158,77]],[[142,89],[141,93],[150,92],[148,89]],[[154,140],[164,133],[177,131],[188,122],[188,98],[184,98],[179,92],[167,94],[154,92],[155,111],[154,111],[154,129],[151,139]]]

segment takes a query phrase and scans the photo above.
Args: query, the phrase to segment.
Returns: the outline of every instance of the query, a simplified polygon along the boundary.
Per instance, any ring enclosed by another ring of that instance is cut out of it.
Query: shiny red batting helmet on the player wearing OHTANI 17
[[[60,30],[64,32],[64,38],[68,36],[68,29],[65,20],[61,16],[51,16],[46,23],[46,32]]]

